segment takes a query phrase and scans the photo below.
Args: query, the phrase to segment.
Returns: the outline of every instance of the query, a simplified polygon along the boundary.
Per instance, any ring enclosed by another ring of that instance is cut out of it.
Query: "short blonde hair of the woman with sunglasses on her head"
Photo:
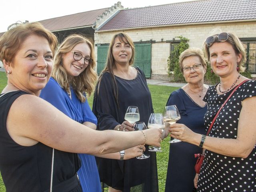
[[[212,36],[215,37],[215,36],[218,36],[218,34],[214,34]],[[212,44],[214,44],[215,42],[220,42],[220,41],[218,40],[218,38],[215,38]],[[228,39],[225,42],[228,42],[233,47],[237,55],[242,54],[242,58],[237,65],[238,65],[238,72],[244,72],[245,67],[243,65],[246,62],[246,53],[244,50],[243,43],[235,34],[232,34],[232,33],[228,33]],[[212,44],[210,46],[212,46]],[[206,45],[206,41],[204,41],[204,52],[206,54],[206,58],[208,61],[210,60],[210,52],[209,52],[210,46]]]

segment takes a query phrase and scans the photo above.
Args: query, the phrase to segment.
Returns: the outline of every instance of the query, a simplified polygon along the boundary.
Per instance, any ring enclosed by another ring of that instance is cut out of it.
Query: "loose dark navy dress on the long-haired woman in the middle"
[[[128,106],[138,106],[140,122],[148,124],[148,118],[153,112],[152,99],[144,73],[138,69],[133,80],[125,80],[115,76],[118,87],[118,102],[116,104],[111,74],[105,72],[94,94],[93,112],[98,118],[98,129],[114,129],[124,122]],[[149,152],[150,158],[139,160],[110,160],[96,158],[101,182],[123,192],[132,192],[136,186],[137,192],[158,192],[158,177],[156,168],[156,152]]]

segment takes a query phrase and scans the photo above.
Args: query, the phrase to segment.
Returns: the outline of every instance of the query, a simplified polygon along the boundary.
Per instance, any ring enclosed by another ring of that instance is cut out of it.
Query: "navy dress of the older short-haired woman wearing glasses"
[[[207,105],[199,106],[181,88],[172,92],[166,106],[168,105],[177,106],[181,117],[177,123],[185,124],[196,133],[205,134],[204,114]],[[201,150],[187,142],[170,144],[165,192],[192,192],[196,175],[194,154]]]

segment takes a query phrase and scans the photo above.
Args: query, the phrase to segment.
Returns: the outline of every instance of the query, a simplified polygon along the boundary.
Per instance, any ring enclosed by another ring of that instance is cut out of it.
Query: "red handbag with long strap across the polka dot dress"
[[[234,90],[230,93],[230,95],[228,96],[228,98],[226,99],[226,101],[223,103],[223,105],[220,107],[220,109],[218,110],[218,112],[216,113],[215,117],[213,118],[212,120],[212,123],[208,129],[208,132],[206,134],[206,136],[210,133],[211,129],[212,129],[212,126],[218,116],[218,114],[220,113],[220,111],[222,110],[222,108],[224,107],[224,105],[228,102],[228,100],[230,99],[230,97],[234,94],[234,92],[238,89],[238,87],[240,87],[242,84],[244,84],[244,82],[248,81],[249,79],[246,79],[244,80],[243,82],[241,82],[238,86],[236,86],[234,88]],[[198,153],[198,154],[195,154],[195,158],[197,158],[196,160],[196,165],[195,165],[195,170],[196,170],[196,173],[200,173],[200,169],[201,169],[201,166],[203,164],[203,161],[204,161],[204,154],[201,153]]]

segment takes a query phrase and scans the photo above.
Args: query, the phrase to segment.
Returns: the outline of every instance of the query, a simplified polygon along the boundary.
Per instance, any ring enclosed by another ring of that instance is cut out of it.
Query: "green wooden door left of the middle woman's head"
[[[97,45],[97,73],[98,75],[105,67],[108,56],[108,45]]]

